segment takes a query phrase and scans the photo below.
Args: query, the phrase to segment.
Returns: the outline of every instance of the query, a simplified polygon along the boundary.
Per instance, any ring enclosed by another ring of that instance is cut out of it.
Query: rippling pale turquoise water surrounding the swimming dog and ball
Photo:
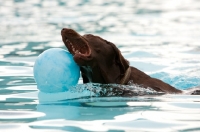
[[[69,27],[179,89],[199,86],[199,11],[197,0],[0,0],[0,131],[200,131],[199,95],[38,94],[32,71],[44,50],[65,49]]]

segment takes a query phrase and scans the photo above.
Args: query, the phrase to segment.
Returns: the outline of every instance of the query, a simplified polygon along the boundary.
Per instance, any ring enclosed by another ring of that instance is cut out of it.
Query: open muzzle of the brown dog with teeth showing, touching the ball
[[[72,29],[61,31],[65,46],[73,56],[88,57],[91,54],[87,40]]]

